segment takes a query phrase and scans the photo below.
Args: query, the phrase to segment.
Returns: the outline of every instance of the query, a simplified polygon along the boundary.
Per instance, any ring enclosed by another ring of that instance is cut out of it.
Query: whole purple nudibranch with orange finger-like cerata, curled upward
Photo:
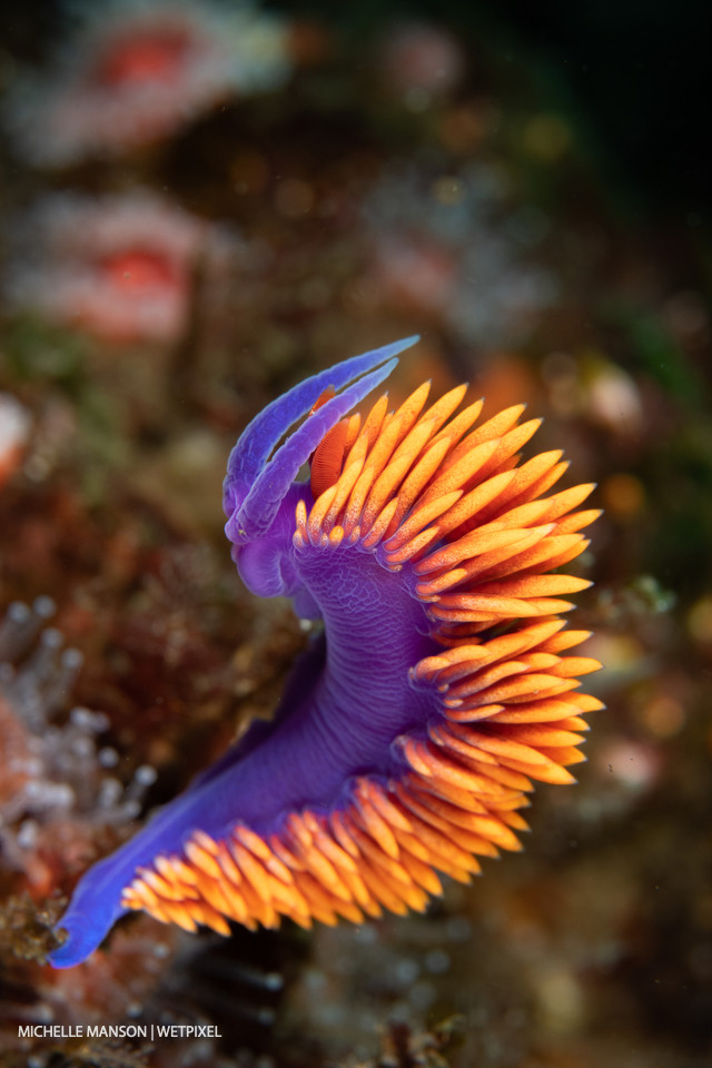
[[[589,582],[558,568],[587,544],[592,486],[550,494],[561,452],[518,456],[540,421],[517,405],[475,426],[482,402],[456,414],[466,386],[349,414],[415,340],[300,383],[235,445],[238,571],[323,627],[275,719],[82,878],[56,967],[135,909],[226,934],[423,910],[438,872],[466,882],[520,848],[532,780],[573,781],[601,706],[574,691],[599,664],[568,654],[587,633],[564,627],[561,595]]]

